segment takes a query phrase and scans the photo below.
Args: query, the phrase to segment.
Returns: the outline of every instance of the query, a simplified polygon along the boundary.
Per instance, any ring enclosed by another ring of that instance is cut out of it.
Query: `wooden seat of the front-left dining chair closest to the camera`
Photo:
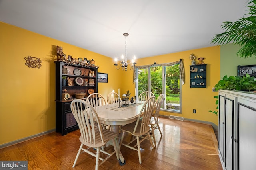
[[[84,139],[82,139],[82,136],[79,137],[79,140],[82,144],[84,144],[88,147],[102,147],[102,146],[106,145],[106,143],[108,141],[117,137],[117,134],[113,131],[109,131],[107,129],[102,129],[102,132],[104,135],[104,142],[102,142],[102,140],[101,140],[98,127],[95,128],[95,143],[93,141],[92,141],[92,143],[90,141],[85,141]]]

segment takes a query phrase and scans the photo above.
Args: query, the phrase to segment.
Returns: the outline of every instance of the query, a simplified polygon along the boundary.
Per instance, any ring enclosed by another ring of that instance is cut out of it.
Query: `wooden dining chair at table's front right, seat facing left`
[[[142,162],[141,153],[140,153],[140,143],[145,139],[149,139],[152,147],[154,148],[151,137],[149,135],[149,130],[150,130],[149,121],[152,117],[154,105],[155,105],[155,97],[151,96],[148,100],[146,100],[146,102],[142,106],[142,109],[140,110],[140,114],[138,116],[137,121],[134,121],[133,123],[130,123],[121,127],[123,134],[121,137],[120,146],[124,145],[130,149],[137,150],[140,164]],[[142,119],[140,119],[142,114],[143,114],[143,117]],[[134,138],[129,143],[124,144],[123,139],[124,139],[124,134],[126,132],[132,134]],[[143,135],[145,135],[145,137],[142,137]],[[133,141],[135,141],[136,139],[137,139],[136,145],[132,146]],[[137,148],[135,148],[136,146]]]

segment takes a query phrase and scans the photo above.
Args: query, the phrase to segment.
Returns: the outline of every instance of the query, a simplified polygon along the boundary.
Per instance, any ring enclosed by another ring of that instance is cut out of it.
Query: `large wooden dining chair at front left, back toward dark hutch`
[[[119,160],[118,135],[108,129],[102,129],[100,119],[95,109],[88,102],[81,99],[76,99],[71,102],[71,111],[76,119],[81,133],[81,136],[79,137],[81,145],[76,154],[73,168],[76,166],[78,157],[82,152],[86,152],[96,157],[95,170],[98,170],[99,166],[108,160],[108,158],[110,158],[110,156],[112,156],[114,153],[116,153],[116,158]],[[95,123],[98,124],[98,127],[94,126]],[[113,152],[109,153],[100,149],[110,140],[112,140],[114,146]],[[84,145],[87,147],[84,148]],[[106,154],[107,156],[102,158],[102,153]],[[100,163],[99,160],[101,160]]]

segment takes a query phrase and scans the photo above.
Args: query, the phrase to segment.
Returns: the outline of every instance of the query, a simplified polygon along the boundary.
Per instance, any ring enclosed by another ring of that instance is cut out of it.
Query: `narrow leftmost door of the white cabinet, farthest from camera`
[[[218,133],[218,148],[220,152],[220,156],[222,158],[222,162],[225,162],[224,160],[224,142],[225,142],[225,124],[224,124],[224,115],[225,115],[225,97],[221,94],[219,95],[219,133]]]

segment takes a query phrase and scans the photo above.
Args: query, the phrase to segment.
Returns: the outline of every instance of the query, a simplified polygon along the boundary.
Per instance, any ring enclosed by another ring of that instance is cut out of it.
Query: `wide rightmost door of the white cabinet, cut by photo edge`
[[[237,168],[256,169],[256,102],[238,98]]]

